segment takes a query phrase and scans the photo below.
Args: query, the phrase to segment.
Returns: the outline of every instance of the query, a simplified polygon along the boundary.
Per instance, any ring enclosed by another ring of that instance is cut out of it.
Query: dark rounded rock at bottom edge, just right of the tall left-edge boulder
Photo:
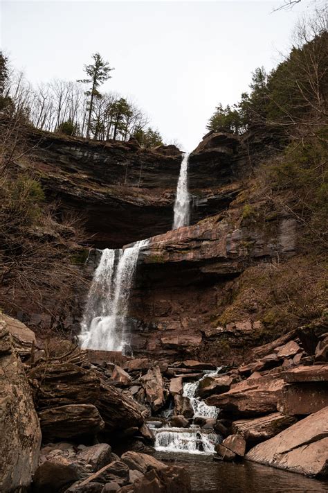
[[[33,492],[57,493],[80,479],[72,465],[57,464],[47,460],[40,465],[33,476]]]

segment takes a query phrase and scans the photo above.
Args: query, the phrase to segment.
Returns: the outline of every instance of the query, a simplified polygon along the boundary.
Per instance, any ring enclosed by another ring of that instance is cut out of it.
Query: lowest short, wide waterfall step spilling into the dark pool
[[[155,449],[165,452],[213,453],[219,438],[214,431],[200,428],[153,429]]]

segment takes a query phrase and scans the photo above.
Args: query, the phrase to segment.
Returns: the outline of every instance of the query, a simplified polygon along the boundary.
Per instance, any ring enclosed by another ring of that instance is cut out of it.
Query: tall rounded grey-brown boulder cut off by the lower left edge
[[[41,444],[39,420],[23,365],[0,320],[0,491],[28,487]]]

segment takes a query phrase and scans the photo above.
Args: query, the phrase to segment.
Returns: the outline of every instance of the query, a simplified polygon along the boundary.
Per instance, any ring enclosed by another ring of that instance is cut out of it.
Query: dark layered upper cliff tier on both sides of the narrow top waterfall
[[[35,171],[48,198],[60,200],[63,210],[82,212],[96,247],[119,248],[171,229],[179,149],[145,150],[134,141],[86,142],[53,134],[31,135],[30,140]],[[231,153],[235,144],[230,141],[217,149],[222,166],[227,155],[231,162]],[[212,156],[201,166],[192,157],[192,223],[228,205],[236,194],[232,177],[230,171],[221,174]]]

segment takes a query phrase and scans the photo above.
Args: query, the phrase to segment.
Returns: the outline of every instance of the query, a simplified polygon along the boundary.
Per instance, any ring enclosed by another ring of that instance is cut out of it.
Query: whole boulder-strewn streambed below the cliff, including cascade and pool
[[[327,491],[323,329],[216,367],[0,328],[1,492]]]

